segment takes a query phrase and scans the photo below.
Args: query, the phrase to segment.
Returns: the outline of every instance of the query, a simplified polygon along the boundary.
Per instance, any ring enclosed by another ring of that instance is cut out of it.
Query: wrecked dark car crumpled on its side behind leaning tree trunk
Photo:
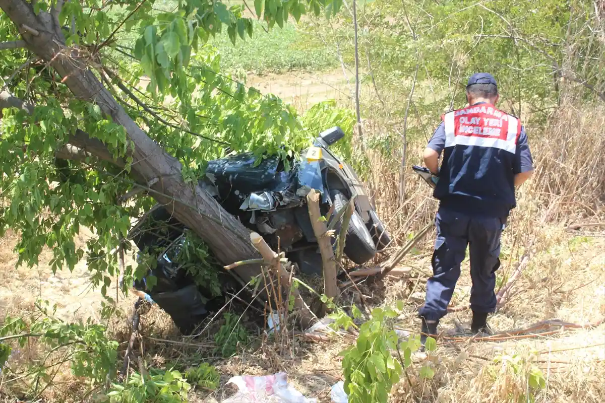
[[[277,156],[257,161],[252,153],[209,161],[200,185],[243,225],[261,234],[274,250],[279,246],[287,259],[308,275],[321,276],[322,261],[309,218],[307,194],[318,191],[321,214],[341,221],[338,212],[354,199],[344,254],[363,264],[387,247],[391,239],[358,175],[330,151],[330,146],[343,137],[340,127],[322,132],[312,146],[287,161],[290,169]],[[160,205],[149,213],[148,219],[131,229],[129,239],[141,251],[160,251],[157,266],[149,272],[157,283],[149,290],[143,278],[135,282],[135,288],[147,292],[171,315],[181,332],[188,334],[208,315],[209,304],[217,301],[208,298],[208,290],[195,286],[175,261],[187,228]],[[157,222],[168,226],[161,236],[149,231]],[[338,228],[339,223],[335,224]],[[336,247],[335,239],[332,242]]]

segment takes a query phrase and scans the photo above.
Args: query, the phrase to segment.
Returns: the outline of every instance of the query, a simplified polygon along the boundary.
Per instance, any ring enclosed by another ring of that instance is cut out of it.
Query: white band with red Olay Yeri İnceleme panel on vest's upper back
[[[521,131],[520,121],[504,112],[500,113],[501,117],[495,118],[493,114],[467,108],[445,114],[445,147],[494,147],[515,153]]]

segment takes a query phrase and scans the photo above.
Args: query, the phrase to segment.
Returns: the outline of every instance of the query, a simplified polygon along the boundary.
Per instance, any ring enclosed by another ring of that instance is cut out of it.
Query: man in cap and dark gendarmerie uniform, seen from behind
[[[515,207],[515,187],[532,175],[533,162],[521,121],[495,108],[498,88],[488,73],[474,74],[466,86],[468,106],[442,115],[424,150],[425,166],[437,175],[433,277],[420,309],[422,344],[436,335],[460,277],[470,245],[471,309],[474,334],[489,333],[495,311],[495,271],[500,267],[500,234]],[[439,169],[439,155],[443,161]]]

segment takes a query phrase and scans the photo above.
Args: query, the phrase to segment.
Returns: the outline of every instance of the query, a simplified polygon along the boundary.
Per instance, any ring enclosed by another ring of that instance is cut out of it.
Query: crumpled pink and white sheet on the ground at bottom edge
[[[306,398],[288,384],[285,372],[266,376],[234,376],[227,384],[234,384],[238,391],[223,403],[316,403],[317,399]]]

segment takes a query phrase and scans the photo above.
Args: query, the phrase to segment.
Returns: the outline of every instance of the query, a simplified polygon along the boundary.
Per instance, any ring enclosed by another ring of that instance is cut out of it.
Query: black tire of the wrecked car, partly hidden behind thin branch
[[[334,211],[341,210],[348,203],[348,199],[338,190],[332,191]],[[347,239],[344,244],[344,253],[358,265],[362,265],[376,255],[376,245],[365,228],[364,221],[357,211],[353,211],[351,221],[348,223]]]

